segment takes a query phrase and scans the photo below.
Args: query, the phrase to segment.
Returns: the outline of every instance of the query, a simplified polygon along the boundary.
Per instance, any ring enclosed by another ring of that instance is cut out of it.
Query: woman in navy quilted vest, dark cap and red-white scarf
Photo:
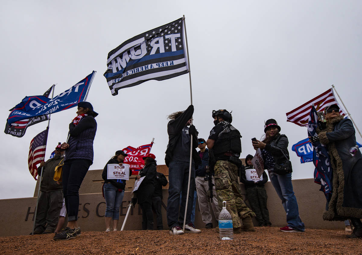
[[[80,235],[80,227],[77,225],[79,188],[93,164],[93,140],[97,131],[94,117],[98,113],[94,112],[92,104],[85,101],[78,103],[76,113],[77,116],[69,124],[68,141],[62,144],[62,149],[66,150],[62,180],[68,225],[55,234],[54,240],[68,240]]]

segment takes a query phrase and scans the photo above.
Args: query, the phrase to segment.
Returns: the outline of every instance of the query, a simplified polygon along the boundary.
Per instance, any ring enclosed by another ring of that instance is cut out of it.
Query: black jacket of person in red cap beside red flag
[[[146,201],[150,202],[151,204],[151,198],[153,195],[153,191],[155,190],[156,163],[153,162],[142,168],[139,171],[139,176],[145,177],[139,188],[135,191],[135,193],[137,193],[138,204],[142,204]]]

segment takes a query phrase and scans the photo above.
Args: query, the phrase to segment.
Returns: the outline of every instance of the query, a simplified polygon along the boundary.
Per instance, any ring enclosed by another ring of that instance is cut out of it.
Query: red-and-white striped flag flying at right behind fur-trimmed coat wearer
[[[342,110],[341,106],[338,104],[336,97],[334,96],[333,89],[330,88],[327,91],[321,93],[319,96],[316,96],[307,103],[287,112],[287,121],[293,122],[299,126],[308,126],[308,117],[312,109],[312,104],[314,104],[317,112],[321,112],[324,108],[331,104],[337,104],[340,108],[340,114],[345,115],[346,113]]]

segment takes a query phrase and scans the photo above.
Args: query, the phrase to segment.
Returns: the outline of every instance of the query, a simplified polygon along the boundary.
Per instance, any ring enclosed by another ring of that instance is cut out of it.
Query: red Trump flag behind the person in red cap
[[[144,167],[144,160],[142,159],[148,153],[150,153],[153,142],[146,145],[141,145],[137,148],[128,146],[123,151],[128,154],[123,161],[123,163],[130,165],[130,170],[132,174],[138,174],[138,171]]]

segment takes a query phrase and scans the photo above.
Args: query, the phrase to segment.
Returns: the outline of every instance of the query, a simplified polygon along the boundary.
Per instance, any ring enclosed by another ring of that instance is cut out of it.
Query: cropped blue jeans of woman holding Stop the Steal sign
[[[111,183],[103,186],[104,198],[106,199],[105,217],[112,217],[112,220],[119,220],[119,208],[121,207],[125,191],[119,192],[118,188]]]

